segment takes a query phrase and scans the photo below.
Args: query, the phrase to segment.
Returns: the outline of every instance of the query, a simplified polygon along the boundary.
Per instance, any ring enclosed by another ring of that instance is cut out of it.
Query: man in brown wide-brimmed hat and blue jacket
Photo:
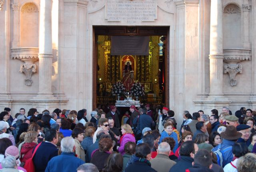
[[[232,161],[233,153],[232,153],[232,146],[236,143],[238,138],[242,136],[242,133],[237,132],[236,127],[234,126],[227,126],[225,132],[222,132],[220,134],[221,138],[223,139],[223,142],[212,149],[213,152],[217,150],[223,150],[223,164],[224,167],[226,164],[230,163]]]

